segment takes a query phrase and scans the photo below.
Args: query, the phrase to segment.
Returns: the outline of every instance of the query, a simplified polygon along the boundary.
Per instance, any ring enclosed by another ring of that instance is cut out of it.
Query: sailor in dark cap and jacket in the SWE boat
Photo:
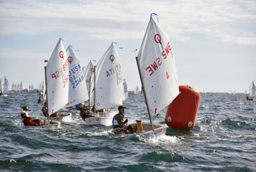
[[[113,131],[116,134],[128,134],[127,131],[127,126],[125,126],[125,124],[127,124],[128,119],[126,119],[124,121],[124,110],[126,108],[124,106],[119,106],[118,107],[118,111],[119,113],[117,113],[112,120],[112,124],[113,124]]]

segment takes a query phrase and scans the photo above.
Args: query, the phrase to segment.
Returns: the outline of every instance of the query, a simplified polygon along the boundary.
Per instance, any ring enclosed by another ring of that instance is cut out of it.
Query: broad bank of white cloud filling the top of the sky
[[[2,1],[0,34],[79,31],[96,39],[143,38],[150,13],[175,41],[199,33],[255,45],[256,1]],[[249,25],[250,27],[241,27]],[[237,35],[239,33],[239,35]]]

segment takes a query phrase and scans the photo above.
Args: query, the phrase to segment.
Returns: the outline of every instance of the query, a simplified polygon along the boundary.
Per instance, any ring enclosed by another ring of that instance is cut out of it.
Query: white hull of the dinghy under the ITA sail
[[[97,113],[93,113],[95,117],[86,118],[86,125],[104,125],[110,126],[112,125],[113,117],[118,113],[118,111],[106,111],[99,112],[99,117],[97,117]]]

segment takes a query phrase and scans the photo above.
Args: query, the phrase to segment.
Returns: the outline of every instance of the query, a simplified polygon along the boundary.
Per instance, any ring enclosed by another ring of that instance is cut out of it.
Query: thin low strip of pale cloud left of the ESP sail
[[[31,50],[17,50],[13,48],[0,47],[0,59],[39,59],[44,60],[51,54],[32,52]]]

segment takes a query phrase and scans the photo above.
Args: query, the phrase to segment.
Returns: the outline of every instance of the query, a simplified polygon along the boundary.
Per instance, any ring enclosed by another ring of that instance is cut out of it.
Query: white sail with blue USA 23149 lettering
[[[89,99],[81,64],[70,46],[67,49],[67,57],[69,92],[66,107],[74,106]]]

